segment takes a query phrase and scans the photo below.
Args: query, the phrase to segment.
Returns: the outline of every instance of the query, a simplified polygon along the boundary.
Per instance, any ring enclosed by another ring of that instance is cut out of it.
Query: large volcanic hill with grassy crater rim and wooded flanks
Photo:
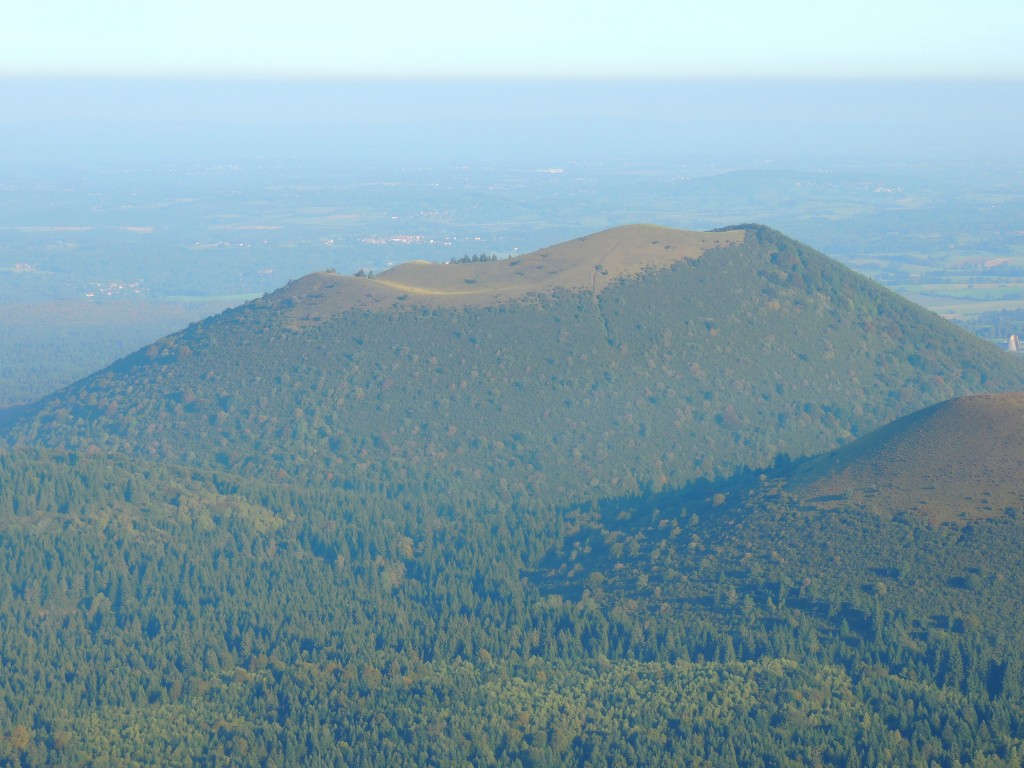
[[[0,435],[346,487],[592,498],[1017,388],[1019,360],[778,232],[629,226],[504,261],[309,275]]]

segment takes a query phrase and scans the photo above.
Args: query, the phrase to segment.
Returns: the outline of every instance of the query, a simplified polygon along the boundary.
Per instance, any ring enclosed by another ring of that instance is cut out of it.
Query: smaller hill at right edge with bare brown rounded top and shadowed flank
[[[844,599],[857,603],[861,590],[889,603],[898,595],[904,607],[945,600],[956,606],[945,615],[984,607],[989,627],[1018,632],[1021,614],[998,605],[1011,583],[1024,590],[1022,462],[1024,392],[947,400],[830,454],[581,509],[539,579],[579,597],[601,574],[613,602],[650,600],[648,587],[660,585],[655,595],[706,606],[721,597],[723,574],[742,583],[740,594],[781,580],[792,589],[779,595],[793,598],[811,580],[853,590]],[[971,573],[987,573],[992,589],[966,594],[968,582],[985,583]]]

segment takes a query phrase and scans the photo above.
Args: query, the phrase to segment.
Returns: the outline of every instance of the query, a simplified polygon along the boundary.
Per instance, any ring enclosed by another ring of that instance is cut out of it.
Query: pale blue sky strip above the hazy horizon
[[[0,77],[1024,78],[1020,0],[5,0]]]

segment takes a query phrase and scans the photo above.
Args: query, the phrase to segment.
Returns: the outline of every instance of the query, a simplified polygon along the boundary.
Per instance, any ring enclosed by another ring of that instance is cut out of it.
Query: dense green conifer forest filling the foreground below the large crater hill
[[[0,764],[1017,765],[1020,520],[785,476],[465,508],[0,455]]]

